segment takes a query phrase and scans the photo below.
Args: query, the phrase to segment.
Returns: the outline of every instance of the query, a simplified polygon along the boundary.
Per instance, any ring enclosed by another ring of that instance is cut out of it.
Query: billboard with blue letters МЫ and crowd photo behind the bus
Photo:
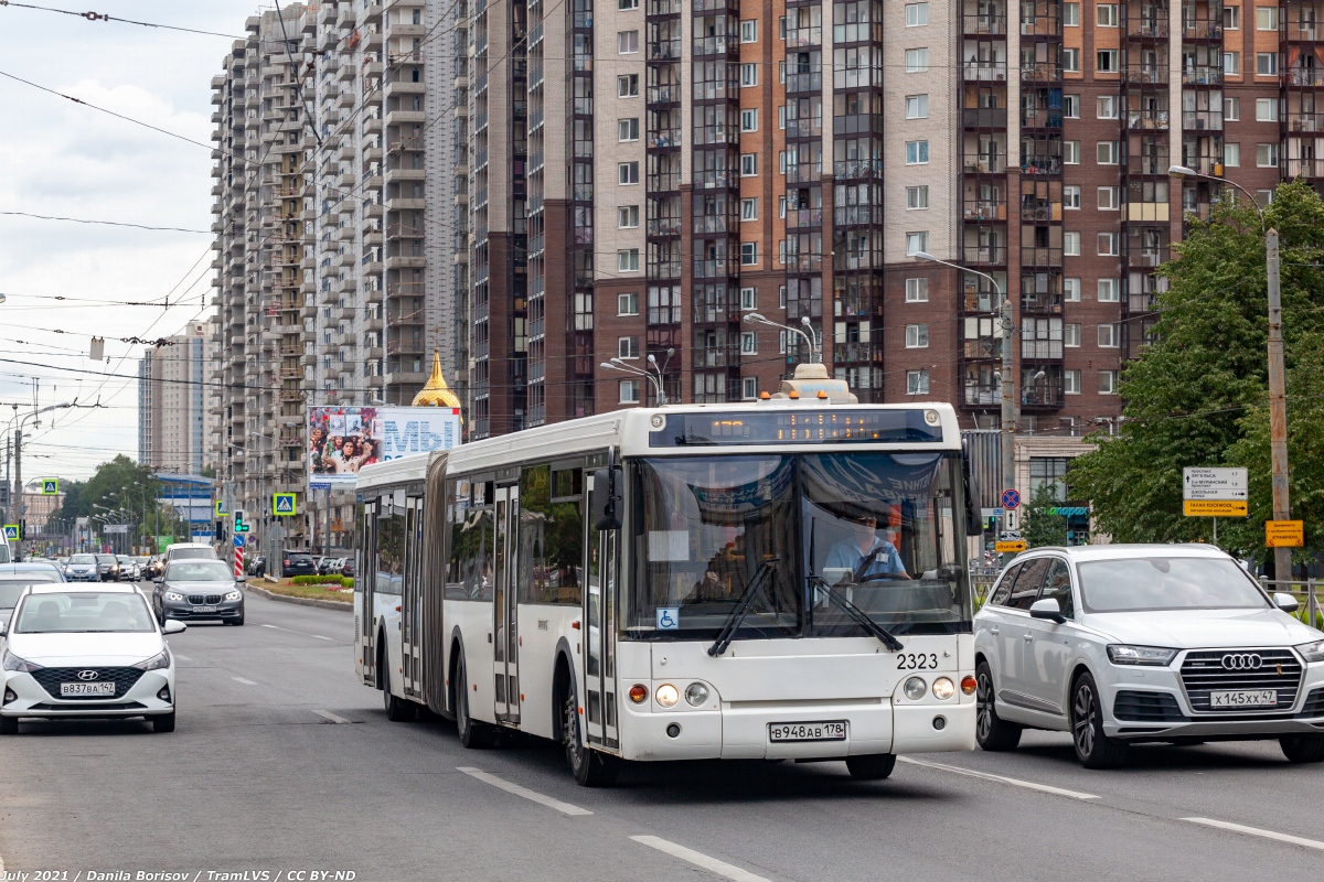
[[[364,465],[458,443],[458,407],[310,407],[308,488],[350,489]]]

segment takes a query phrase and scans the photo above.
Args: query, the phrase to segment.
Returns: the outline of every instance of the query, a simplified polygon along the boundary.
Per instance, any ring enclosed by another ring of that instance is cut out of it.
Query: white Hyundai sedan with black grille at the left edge
[[[158,627],[128,584],[32,586],[0,623],[0,734],[16,734],[24,717],[146,717],[155,731],[175,731],[175,660],[164,636],[185,628]]]

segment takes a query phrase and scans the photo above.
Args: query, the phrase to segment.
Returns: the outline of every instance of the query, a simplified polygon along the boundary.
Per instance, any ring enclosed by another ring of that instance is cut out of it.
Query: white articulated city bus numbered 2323
[[[972,750],[948,405],[621,410],[365,467],[355,649],[388,715],[618,760]]]

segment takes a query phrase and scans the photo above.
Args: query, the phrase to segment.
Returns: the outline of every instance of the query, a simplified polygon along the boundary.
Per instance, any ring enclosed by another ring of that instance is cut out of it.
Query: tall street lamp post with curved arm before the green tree
[[[1173,177],[1202,177],[1235,186],[1246,194],[1251,208],[1259,214],[1259,231],[1264,238],[1264,270],[1268,276],[1268,452],[1274,488],[1274,520],[1292,517],[1291,496],[1287,488],[1287,372],[1283,366],[1283,299],[1282,271],[1278,258],[1278,230],[1266,229],[1264,210],[1245,186],[1226,177],[1205,175],[1186,165],[1170,165]],[[1274,579],[1279,587],[1292,579],[1292,550],[1274,549]]]

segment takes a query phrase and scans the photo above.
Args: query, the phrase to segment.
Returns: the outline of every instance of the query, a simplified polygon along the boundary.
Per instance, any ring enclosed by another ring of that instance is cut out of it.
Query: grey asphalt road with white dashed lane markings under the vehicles
[[[1276,742],[1139,747],[1091,772],[1064,735],[1031,733],[1012,755],[918,756],[879,783],[842,763],[685,763],[588,791],[544,742],[466,751],[449,723],[387,722],[355,681],[348,615],[248,604],[244,628],[171,637],[173,734],[65,721],[0,742],[5,870],[1284,882],[1324,862],[1324,767],[1288,766]]]

